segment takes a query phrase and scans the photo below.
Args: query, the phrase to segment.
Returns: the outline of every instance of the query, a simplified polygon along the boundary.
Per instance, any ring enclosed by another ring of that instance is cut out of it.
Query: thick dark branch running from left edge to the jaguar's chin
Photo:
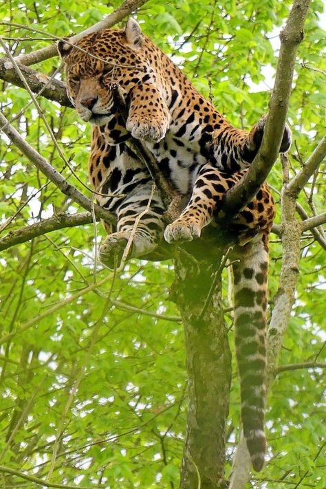
[[[39,94],[41,91],[43,97],[54,100],[54,102],[58,102],[65,107],[72,107],[72,102],[67,97],[64,82],[60,80],[50,81],[49,76],[36,72],[34,69],[27,68],[21,63],[19,63],[19,69],[34,94]],[[19,78],[19,74],[8,58],[0,58],[0,78],[8,83],[12,83],[12,85],[25,88],[23,81]]]

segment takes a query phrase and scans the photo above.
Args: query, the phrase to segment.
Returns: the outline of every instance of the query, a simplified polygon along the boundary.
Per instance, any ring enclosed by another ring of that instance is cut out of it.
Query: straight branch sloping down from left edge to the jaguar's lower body
[[[116,216],[110,213],[105,208],[98,206],[97,204],[92,204],[91,200],[80,193],[74,186],[68,184],[67,180],[63,178],[61,173],[58,173],[53,166],[48,163],[43,156],[41,156],[37,151],[35,151],[28,142],[26,142],[21,135],[9,124],[8,120],[0,113],[0,130],[2,130],[10,139],[10,141],[15,144],[21,152],[28,157],[30,162],[32,162],[36,168],[38,168],[51,182],[53,182],[62,193],[70,197],[77,204],[80,204],[86,210],[91,212],[93,206],[96,217],[104,219],[109,223],[116,222]]]

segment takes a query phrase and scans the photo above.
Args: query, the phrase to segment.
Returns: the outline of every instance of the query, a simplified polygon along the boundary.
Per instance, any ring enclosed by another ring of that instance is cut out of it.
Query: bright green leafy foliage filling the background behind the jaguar
[[[47,32],[56,36],[80,32],[120,3],[5,2],[0,7],[1,19],[45,34],[2,25],[3,38],[16,55],[31,52],[49,45]],[[267,111],[279,29],[289,8],[288,0],[151,0],[137,17],[144,32],[183,67],[200,91],[206,96],[211,91],[215,106],[228,120],[248,128]],[[312,153],[325,126],[322,10],[323,3],[315,0],[296,63],[289,111],[297,148],[292,146],[292,175]],[[52,58],[38,69],[49,74],[59,64],[58,58]],[[90,197],[65,168],[36,109],[26,108],[28,93],[2,85],[3,113],[14,118],[14,126],[26,140]],[[80,124],[70,109],[41,98],[40,103],[65,156],[72,158],[80,180],[87,183],[89,127]],[[0,175],[1,223],[8,220],[3,235],[50,217],[54,210],[78,210],[6,138]],[[307,184],[306,195],[299,200],[308,215],[314,208],[320,213],[325,202],[322,176]],[[270,184],[280,190],[281,180],[281,166],[276,164]],[[98,235],[98,240],[105,235],[100,226]],[[272,237],[273,303],[282,250],[279,240]],[[89,488],[176,488],[186,422],[186,373],[182,325],[164,318],[178,314],[169,301],[173,268],[170,262],[134,260],[99,290],[65,303],[93,283],[95,272],[97,281],[109,275],[94,261],[95,245],[94,228],[89,225],[58,230],[1,255],[1,328],[3,336],[12,336],[0,350],[0,464],[45,478],[58,445],[53,482]],[[325,254],[309,232],[302,246],[296,303],[280,365],[325,361]],[[113,305],[111,299],[140,311]],[[21,332],[29,320],[60,303],[56,312]],[[146,312],[162,314],[162,318]],[[228,321],[232,325],[232,319]],[[322,373],[321,369],[299,369],[276,377],[267,415],[270,462],[248,488],[276,489],[281,479],[292,487],[302,479],[296,487],[325,488],[320,450],[325,414]],[[239,437],[236,376],[229,434],[228,473]],[[3,487],[35,487],[10,475],[3,476],[2,482]]]

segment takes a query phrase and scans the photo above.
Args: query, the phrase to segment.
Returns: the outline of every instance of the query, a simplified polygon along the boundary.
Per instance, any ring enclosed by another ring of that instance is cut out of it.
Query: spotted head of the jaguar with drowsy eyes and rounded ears
[[[113,86],[127,98],[133,87],[155,80],[144,48],[148,41],[140,26],[129,19],[125,30],[102,30],[76,44],[59,41],[65,60],[67,93],[80,118],[101,126],[117,112]]]

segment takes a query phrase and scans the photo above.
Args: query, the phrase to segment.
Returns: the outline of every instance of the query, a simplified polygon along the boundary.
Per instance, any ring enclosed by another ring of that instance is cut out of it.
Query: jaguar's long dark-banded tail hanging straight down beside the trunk
[[[233,263],[235,346],[241,384],[243,432],[254,470],[265,457],[266,309],[268,303],[268,233],[239,247]]]

